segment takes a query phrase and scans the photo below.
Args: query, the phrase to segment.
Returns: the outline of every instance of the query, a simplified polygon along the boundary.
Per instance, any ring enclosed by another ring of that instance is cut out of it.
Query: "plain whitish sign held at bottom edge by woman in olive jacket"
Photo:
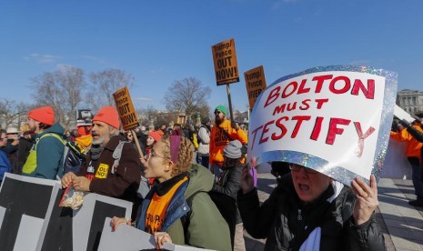
[[[111,218],[106,218],[98,250],[156,250],[156,241],[154,236],[136,229],[133,226],[127,226],[124,224],[118,226],[116,230],[113,231],[110,226],[111,220]],[[166,243],[162,250],[205,251],[208,249],[196,248],[194,246],[178,246]]]

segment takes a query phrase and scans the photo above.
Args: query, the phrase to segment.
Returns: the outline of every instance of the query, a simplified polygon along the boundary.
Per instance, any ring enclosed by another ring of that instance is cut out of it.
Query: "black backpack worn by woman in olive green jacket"
[[[220,215],[225,219],[227,222],[227,226],[229,226],[229,233],[230,233],[230,240],[232,248],[234,248],[234,236],[235,236],[235,226],[237,225],[237,202],[231,196],[227,196],[222,193],[218,193],[216,191],[197,191],[193,195],[186,198],[186,204],[189,208],[192,208],[193,199],[198,193],[206,193],[210,196],[213,203],[216,205],[217,209],[220,212]],[[189,226],[189,218],[191,216],[191,209],[186,213],[185,216],[181,217],[182,226],[184,227],[184,236],[187,236],[188,226]],[[218,231],[218,229],[217,229]],[[187,244],[187,240],[185,239],[185,243]]]

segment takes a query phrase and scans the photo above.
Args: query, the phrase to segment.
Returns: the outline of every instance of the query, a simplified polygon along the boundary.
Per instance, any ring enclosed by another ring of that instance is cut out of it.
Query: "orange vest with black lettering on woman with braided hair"
[[[184,177],[182,180],[172,186],[170,190],[164,196],[158,196],[156,193],[148,205],[146,210],[146,232],[154,235],[156,232],[160,232],[162,224],[165,221],[167,206],[169,206],[175,192],[179,186],[181,186],[188,177]]]

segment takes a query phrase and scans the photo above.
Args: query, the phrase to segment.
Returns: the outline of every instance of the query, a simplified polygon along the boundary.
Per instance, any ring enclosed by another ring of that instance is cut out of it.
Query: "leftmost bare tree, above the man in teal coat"
[[[76,108],[82,102],[85,84],[82,69],[65,66],[33,78],[35,92],[32,96],[38,106],[51,105],[55,120],[67,128],[76,124]]]

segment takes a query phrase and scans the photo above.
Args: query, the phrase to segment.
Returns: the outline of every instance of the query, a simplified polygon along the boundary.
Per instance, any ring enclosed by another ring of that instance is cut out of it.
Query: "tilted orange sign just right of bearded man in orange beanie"
[[[131,96],[126,87],[119,89],[113,94],[115,98],[117,113],[119,114],[120,121],[124,130],[128,131],[139,126],[138,116],[136,115],[136,109],[132,105]]]

